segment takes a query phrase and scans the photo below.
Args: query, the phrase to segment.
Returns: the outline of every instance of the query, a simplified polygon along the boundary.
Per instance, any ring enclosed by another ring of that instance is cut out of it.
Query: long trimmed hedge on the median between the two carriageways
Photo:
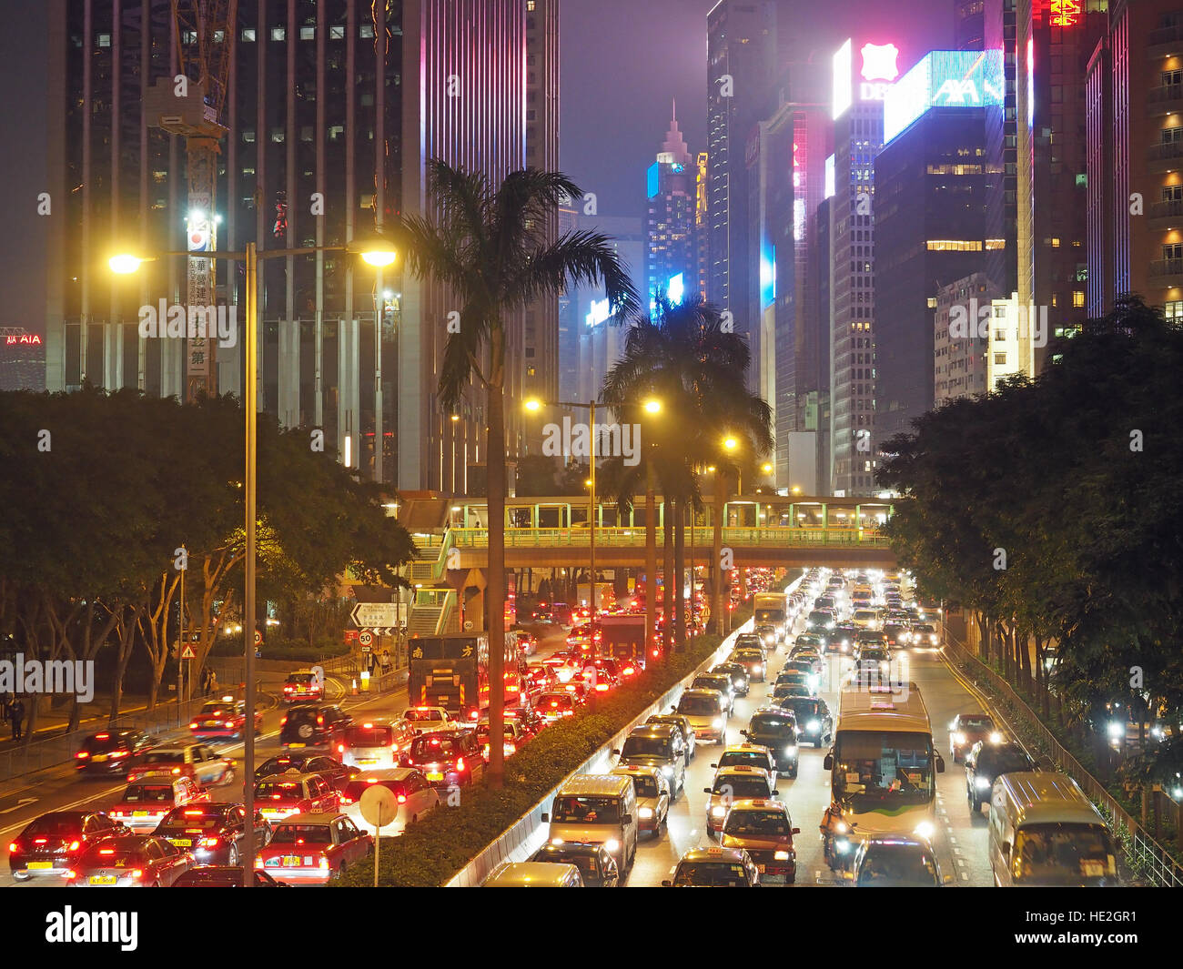
[[[750,612],[746,609],[745,612]],[[737,613],[732,627],[744,621]],[[455,808],[432,812],[399,838],[382,839],[379,885],[439,887],[509,831],[551,788],[576,770],[720,645],[717,635],[698,637],[668,661],[645,671],[574,717],[548,726],[505,761],[502,790],[484,783],[461,789]],[[374,885],[374,855],[334,884]]]

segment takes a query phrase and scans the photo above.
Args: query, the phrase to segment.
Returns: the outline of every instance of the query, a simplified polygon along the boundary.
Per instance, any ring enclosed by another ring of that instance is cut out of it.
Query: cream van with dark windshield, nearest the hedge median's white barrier
[[[542,820],[550,825],[547,834],[550,844],[603,845],[621,872],[632,867],[638,821],[632,777],[578,774],[558,789]]]

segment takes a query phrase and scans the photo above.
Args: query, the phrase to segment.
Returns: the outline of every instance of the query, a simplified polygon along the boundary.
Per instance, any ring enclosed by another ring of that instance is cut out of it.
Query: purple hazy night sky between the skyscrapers
[[[596,193],[601,214],[644,215],[645,169],[670,125],[671,99],[690,150],[706,150],[706,14],[713,6],[563,0],[560,166]],[[796,7],[794,30],[806,43],[817,38],[822,53],[852,33],[874,37],[900,49],[900,72],[952,43],[953,0],[797,0]]]

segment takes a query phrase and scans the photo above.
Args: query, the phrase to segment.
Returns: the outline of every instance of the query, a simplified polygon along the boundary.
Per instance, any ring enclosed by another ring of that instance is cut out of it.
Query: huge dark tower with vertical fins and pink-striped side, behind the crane
[[[214,248],[260,256],[344,245],[427,211],[432,157],[493,181],[554,157],[557,124],[528,136],[528,4],[521,0],[244,0],[227,41],[228,131],[216,160]],[[552,0],[529,44],[534,92],[551,119],[557,25]],[[49,189],[65,199],[50,270],[46,382],[149,394],[185,392],[180,340],[141,338],[138,308],[187,298],[183,260],[115,279],[112,240],[144,252],[186,248],[188,176],[180,136],[154,127],[146,99],[172,85],[188,35],[169,0],[54,0]],[[180,46],[179,46],[180,45]],[[549,45],[549,46],[548,46]],[[537,63],[537,62],[536,62]],[[538,111],[537,106],[532,110]],[[77,187],[77,190],[73,190]],[[323,202],[323,214],[322,214]],[[241,263],[216,264],[216,302],[244,311]],[[437,393],[454,301],[405,274],[375,273],[341,252],[260,259],[259,403],[284,426],[322,427],[338,456],[401,489],[464,491],[483,463],[485,407],[473,386],[457,414]],[[508,321],[509,446],[521,446],[524,314]],[[548,324],[550,325],[550,324]],[[554,369],[536,318],[537,360]],[[222,393],[241,388],[243,341],[218,349]],[[539,370],[541,374],[541,370]]]

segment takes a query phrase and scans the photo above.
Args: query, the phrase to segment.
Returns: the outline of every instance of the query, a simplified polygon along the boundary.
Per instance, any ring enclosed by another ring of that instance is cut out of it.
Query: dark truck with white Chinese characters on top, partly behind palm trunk
[[[407,699],[412,706],[442,706],[474,721],[489,706],[489,637],[447,633],[411,640]],[[505,702],[521,698],[517,644],[505,638]]]

